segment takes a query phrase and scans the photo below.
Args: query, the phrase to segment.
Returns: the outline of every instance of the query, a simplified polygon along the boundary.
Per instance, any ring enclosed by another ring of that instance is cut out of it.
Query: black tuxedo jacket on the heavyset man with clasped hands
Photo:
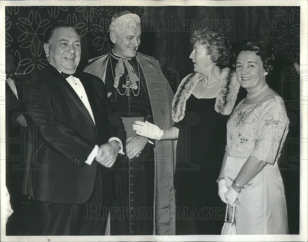
[[[77,74],[77,73],[76,73]],[[95,144],[118,137],[108,118],[112,107],[99,78],[76,75],[83,84],[95,119],[67,80],[50,64],[26,78],[24,115],[34,127],[36,161],[31,164],[33,193],[37,200],[61,204],[86,202],[94,187],[97,166],[102,183],[113,191],[111,171],[97,163],[84,163]]]

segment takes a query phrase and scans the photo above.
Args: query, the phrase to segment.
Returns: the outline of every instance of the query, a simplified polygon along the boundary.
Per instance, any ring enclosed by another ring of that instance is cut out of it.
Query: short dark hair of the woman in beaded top
[[[237,55],[241,51],[253,51],[256,55],[260,56],[263,68],[266,72],[273,70],[275,57],[272,53],[272,49],[267,43],[257,39],[247,39],[242,42],[237,50]]]

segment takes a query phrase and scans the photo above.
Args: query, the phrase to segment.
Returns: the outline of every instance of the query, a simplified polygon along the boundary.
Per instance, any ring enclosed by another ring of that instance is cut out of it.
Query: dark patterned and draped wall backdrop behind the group
[[[193,72],[188,58],[192,51],[192,30],[210,28],[224,31],[234,46],[247,38],[269,43],[275,56],[275,70],[267,81],[279,94],[282,67],[294,62],[299,50],[300,8],[296,6],[7,6],[6,50],[16,56],[18,73],[28,74],[42,69],[48,63],[43,50],[44,33],[53,24],[65,22],[74,25],[81,35],[79,67],[83,68],[88,59],[111,50],[107,31],[109,21],[115,12],[122,10],[140,16],[142,36],[138,51],[160,61],[174,92],[181,79]],[[299,143],[299,139],[296,142]],[[289,163],[285,152],[279,166],[286,188],[290,233],[298,234],[299,158],[292,165]],[[11,196],[14,199],[15,195]],[[10,226],[13,234],[23,233],[20,223],[11,222]]]

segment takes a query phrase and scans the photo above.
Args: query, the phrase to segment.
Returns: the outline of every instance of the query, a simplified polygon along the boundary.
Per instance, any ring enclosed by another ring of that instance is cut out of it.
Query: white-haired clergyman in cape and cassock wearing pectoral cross
[[[149,141],[132,130],[135,120],[147,120],[162,129],[171,127],[173,93],[159,62],[137,53],[138,15],[116,13],[109,31],[113,50],[90,60],[84,71],[102,80],[115,116],[124,124],[126,156],[120,155],[113,166],[117,200],[110,212],[111,235],[173,235],[175,143]]]

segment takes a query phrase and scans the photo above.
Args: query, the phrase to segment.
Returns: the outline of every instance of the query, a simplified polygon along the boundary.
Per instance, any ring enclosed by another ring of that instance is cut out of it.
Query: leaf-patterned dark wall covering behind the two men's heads
[[[6,7],[6,47],[17,58],[18,71],[30,73],[47,65],[44,34],[56,23],[75,26],[81,41],[93,46],[92,57],[111,50],[108,20],[115,12],[129,10],[143,17],[144,7],[122,6],[29,6]],[[83,46],[83,45],[82,45]],[[83,46],[83,48],[86,46]]]

